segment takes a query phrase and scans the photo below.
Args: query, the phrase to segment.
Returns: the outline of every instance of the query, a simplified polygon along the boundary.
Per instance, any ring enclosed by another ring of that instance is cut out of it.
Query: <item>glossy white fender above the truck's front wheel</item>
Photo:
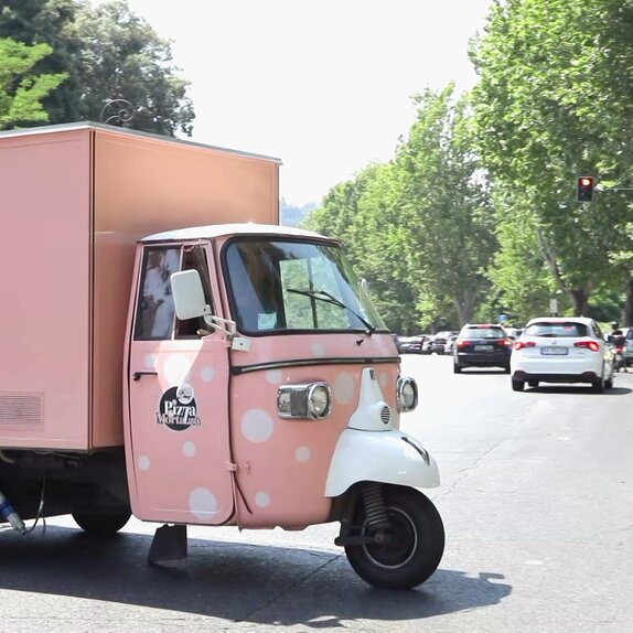
[[[411,436],[396,429],[345,429],[334,449],[325,496],[339,496],[361,481],[411,487],[436,487],[440,474],[433,458]]]

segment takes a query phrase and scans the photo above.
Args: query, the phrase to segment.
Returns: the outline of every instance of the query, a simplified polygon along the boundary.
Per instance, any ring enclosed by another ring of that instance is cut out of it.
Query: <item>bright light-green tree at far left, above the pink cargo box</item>
[[[63,73],[33,73],[33,66],[50,53],[47,44],[28,46],[0,39],[0,129],[47,120],[42,99],[65,78]]]

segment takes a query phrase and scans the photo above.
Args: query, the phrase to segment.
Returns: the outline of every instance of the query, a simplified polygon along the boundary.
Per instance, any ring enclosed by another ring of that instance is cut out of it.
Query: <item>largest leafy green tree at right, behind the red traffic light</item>
[[[629,204],[605,195],[591,204],[575,200],[578,175],[630,180],[631,25],[622,0],[497,0],[472,55],[485,167],[495,187],[512,191],[509,213],[533,215],[539,257],[532,272],[545,275],[544,261],[577,314],[588,313],[592,292],[605,281],[622,285],[631,276],[613,257],[631,250],[622,230]]]

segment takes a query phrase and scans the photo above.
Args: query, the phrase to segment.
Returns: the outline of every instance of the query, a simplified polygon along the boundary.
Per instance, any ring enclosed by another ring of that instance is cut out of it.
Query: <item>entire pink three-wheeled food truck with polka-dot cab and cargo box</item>
[[[414,379],[342,245],[279,226],[280,161],[121,128],[0,133],[0,526],[302,529],[375,587],[437,569]]]

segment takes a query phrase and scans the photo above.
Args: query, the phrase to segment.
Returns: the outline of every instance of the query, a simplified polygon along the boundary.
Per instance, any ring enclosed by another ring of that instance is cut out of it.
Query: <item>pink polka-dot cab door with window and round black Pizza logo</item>
[[[197,319],[179,321],[171,296],[170,276],[195,268],[218,314],[210,255],[208,245],[172,243],[140,256],[126,439],[132,512],[143,521],[218,525],[234,513],[229,344]]]

